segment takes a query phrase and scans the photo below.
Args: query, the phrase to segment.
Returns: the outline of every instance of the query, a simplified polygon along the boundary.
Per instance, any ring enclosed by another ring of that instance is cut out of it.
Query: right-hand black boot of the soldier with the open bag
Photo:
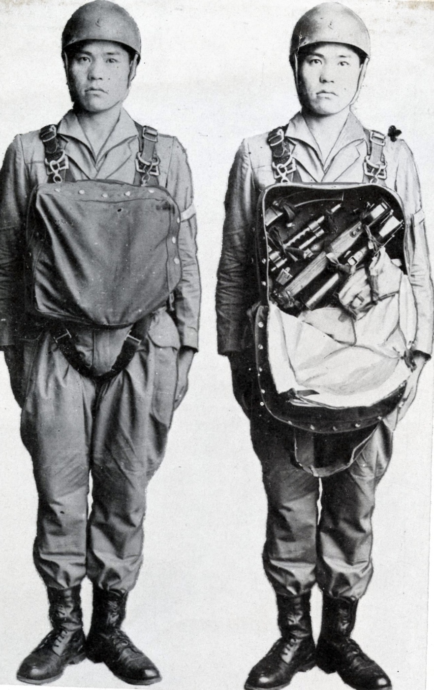
[[[391,690],[386,673],[350,638],[357,601],[324,595],[316,663],[325,673],[337,671],[355,690]]]

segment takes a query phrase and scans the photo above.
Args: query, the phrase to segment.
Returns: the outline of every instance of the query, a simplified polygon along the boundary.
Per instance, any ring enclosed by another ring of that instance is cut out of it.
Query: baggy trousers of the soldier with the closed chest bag
[[[67,362],[50,333],[25,344],[20,390],[12,387],[39,495],[34,563],[47,586],[73,587],[85,575],[101,589],[134,586],[147,484],[172,420],[177,353],[148,333],[130,364],[99,383]]]

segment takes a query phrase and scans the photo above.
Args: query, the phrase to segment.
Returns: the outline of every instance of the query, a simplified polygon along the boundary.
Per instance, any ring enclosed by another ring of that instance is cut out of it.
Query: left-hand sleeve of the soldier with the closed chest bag
[[[0,170],[0,348],[14,344],[23,314],[23,229],[29,193],[18,135]]]

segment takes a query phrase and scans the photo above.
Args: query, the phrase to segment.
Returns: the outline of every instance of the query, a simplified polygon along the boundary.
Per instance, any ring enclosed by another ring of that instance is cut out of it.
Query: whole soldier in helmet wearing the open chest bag
[[[431,355],[433,286],[411,151],[351,112],[369,55],[349,8],[306,12],[289,56],[301,112],[245,139],[229,175],[218,350],[262,465],[281,633],[246,690],[280,690],[316,664],[391,689],[351,632],[373,573],[375,487]]]

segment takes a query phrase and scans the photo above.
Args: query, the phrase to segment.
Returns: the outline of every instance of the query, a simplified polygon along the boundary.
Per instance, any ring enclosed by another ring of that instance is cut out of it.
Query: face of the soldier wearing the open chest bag
[[[335,115],[347,108],[358,88],[360,58],[343,43],[316,43],[300,57],[298,95],[313,115]]]

